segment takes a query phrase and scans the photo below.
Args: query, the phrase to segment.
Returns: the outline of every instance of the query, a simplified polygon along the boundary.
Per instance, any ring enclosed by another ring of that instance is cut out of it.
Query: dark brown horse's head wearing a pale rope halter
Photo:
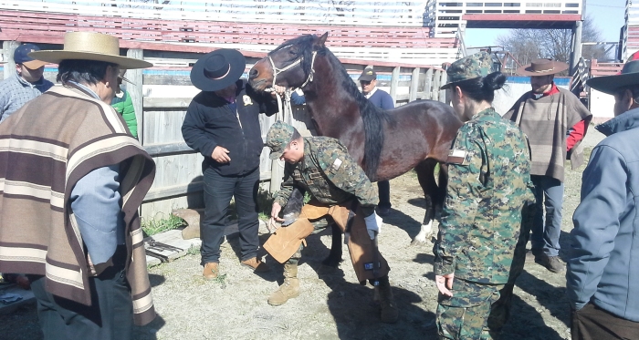
[[[248,73],[248,82],[257,91],[273,84],[285,88],[303,88],[313,78],[315,57],[322,51],[329,33],[306,35],[288,40],[267,57],[259,60]]]

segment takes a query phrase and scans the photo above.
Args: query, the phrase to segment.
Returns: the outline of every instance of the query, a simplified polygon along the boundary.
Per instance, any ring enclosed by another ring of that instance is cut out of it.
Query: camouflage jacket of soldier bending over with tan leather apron
[[[293,184],[301,185],[316,200],[337,204],[357,198],[364,216],[369,216],[379,199],[364,170],[351,159],[348,149],[338,139],[312,137],[304,139],[304,158],[284,168],[284,182],[275,201],[282,207],[288,202]]]

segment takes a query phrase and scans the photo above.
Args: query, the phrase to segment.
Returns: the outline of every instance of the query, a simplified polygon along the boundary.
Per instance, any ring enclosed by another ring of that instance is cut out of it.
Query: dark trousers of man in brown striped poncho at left
[[[123,265],[89,278],[90,306],[48,293],[43,276],[29,279],[45,340],[131,339],[133,303]]]

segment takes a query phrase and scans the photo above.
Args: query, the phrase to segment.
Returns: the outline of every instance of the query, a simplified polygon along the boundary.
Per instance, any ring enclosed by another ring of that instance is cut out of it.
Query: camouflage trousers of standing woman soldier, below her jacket
[[[437,330],[440,339],[493,339],[487,327],[491,305],[498,301],[503,284],[474,283],[456,278],[453,297],[439,296]]]

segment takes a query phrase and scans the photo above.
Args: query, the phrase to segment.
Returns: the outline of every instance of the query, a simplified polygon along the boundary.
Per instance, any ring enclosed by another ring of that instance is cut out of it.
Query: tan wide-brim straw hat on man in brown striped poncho
[[[105,61],[117,64],[121,69],[153,66],[148,61],[120,56],[120,39],[96,32],[68,32],[64,36],[64,49],[35,51],[28,56],[53,64],[79,59]]]

